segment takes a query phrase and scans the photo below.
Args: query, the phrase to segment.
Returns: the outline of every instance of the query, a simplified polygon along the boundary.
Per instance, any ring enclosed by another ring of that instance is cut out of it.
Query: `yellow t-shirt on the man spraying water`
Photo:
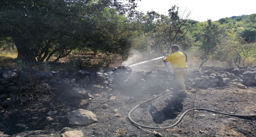
[[[188,67],[186,64],[186,56],[180,51],[174,52],[173,54],[169,54],[165,61],[170,61],[171,66],[173,68],[184,68]]]

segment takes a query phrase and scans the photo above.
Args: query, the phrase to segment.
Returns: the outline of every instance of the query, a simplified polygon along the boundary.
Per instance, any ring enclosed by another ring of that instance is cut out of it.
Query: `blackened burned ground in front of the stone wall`
[[[159,91],[161,92],[161,91]],[[109,100],[107,96],[112,94],[116,100]],[[147,131],[134,126],[127,118],[128,112],[137,104],[154,97],[152,94],[136,94],[127,96],[120,91],[111,93],[102,92],[95,100],[86,101],[72,96],[56,94],[51,101],[43,104],[33,103],[17,104],[16,106],[1,110],[1,131],[8,135],[25,136],[29,131],[45,131],[49,136],[60,136],[59,131],[64,127],[81,130],[84,136],[95,137],[146,137],[154,136]],[[175,101],[173,91],[168,91],[149,103],[137,108],[131,117],[134,121],[145,126],[166,127],[175,123],[180,116],[173,114],[175,111],[183,113],[190,108],[207,108],[234,114],[255,114],[255,88],[224,88],[222,90],[209,88],[197,90],[197,93],[188,91],[187,98],[183,102]],[[102,102],[108,102],[109,107],[102,109]],[[68,124],[66,113],[71,110],[82,108],[92,111],[98,118],[98,122],[89,126],[72,126]],[[114,117],[112,110],[118,109],[121,117]],[[46,121],[47,112],[58,111],[53,121]],[[4,118],[4,116],[7,116]],[[32,117],[39,117],[33,120]],[[24,126],[15,126],[18,123]],[[148,129],[156,131],[162,136],[248,136],[256,135],[255,117],[232,117],[223,114],[215,114],[207,111],[191,111],[175,127],[168,129]]]

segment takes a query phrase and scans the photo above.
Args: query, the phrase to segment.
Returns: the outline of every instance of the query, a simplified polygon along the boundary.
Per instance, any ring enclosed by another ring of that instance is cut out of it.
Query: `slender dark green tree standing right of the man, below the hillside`
[[[201,64],[199,65],[199,68],[211,58],[211,55],[217,49],[222,33],[223,29],[220,28],[220,25],[211,20],[207,20],[207,24],[202,26],[202,32],[200,34],[201,43],[199,44],[199,50],[201,52]]]

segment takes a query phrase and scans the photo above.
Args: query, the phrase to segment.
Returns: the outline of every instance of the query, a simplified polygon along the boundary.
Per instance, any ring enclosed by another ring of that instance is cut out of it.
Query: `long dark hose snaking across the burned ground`
[[[141,105],[144,104],[144,103],[147,103],[148,101],[153,100],[154,98],[159,97],[159,96],[160,96],[161,94],[163,94],[169,87],[170,87],[170,85],[169,85],[162,93],[160,93],[160,94],[158,94],[157,96],[155,96],[155,97],[153,97],[153,98],[150,98],[149,100],[146,100],[146,101],[144,101],[144,102],[138,104],[136,107],[132,108],[132,110],[129,111],[129,113],[128,113],[128,118],[129,118],[129,120],[130,120],[132,123],[134,123],[134,124],[136,124],[137,126],[140,126],[140,127],[151,128],[151,129],[156,129],[156,128],[160,129],[160,128],[170,128],[170,127],[176,126],[178,123],[180,123],[180,121],[181,121],[182,118],[185,116],[185,114],[188,113],[188,111],[191,111],[191,110],[205,110],[205,111],[209,111],[209,112],[213,112],[213,113],[220,113],[220,114],[225,114],[225,115],[234,116],[234,117],[255,117],[255,116],[256,116],[256,115],[236,115],[236,114],[228,114],[228,113],[223,113],[223,112],[219,112],[219,111],[209,110],[209,109],[206,109],[206,108],[191,108],[191,109],[185,111],[185,112],[180,116],[180,118],[178,119],[178,121],[177,121],[176,123],[174,123],[173,125],[168,126],[168,127],[148,127],[148,126],[144,126],[144,125],[138,124],[138,123],[136,123],[135,121],[132,120],[132,118],[131,118],[131,113],[132,113],[137,107],[141,106]]]

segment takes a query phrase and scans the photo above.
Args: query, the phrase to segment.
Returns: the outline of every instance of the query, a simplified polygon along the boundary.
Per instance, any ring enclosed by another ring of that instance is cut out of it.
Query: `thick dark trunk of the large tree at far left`
[[[23,60],[31,65],[36,63],[35,51],[32,49],[32,45],[29,40],[22,39],[19,37],[12,37],[13,42],[18,51],[17,60]]]

